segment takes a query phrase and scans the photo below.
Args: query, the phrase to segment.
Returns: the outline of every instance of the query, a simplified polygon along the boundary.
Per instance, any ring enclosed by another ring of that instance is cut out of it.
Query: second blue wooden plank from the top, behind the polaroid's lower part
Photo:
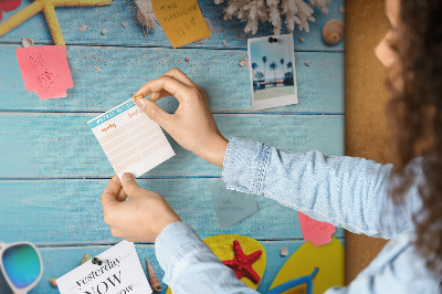
[[[0,45],[0,111],[105,112],[175,66],[207,91],[213,112],[252,108],[249,70],[239,65],[245,51],[69,46],[74,87],[67,98],[40,101],[24,88],[17,48]],[[267,112],[344,113],[344,53],[297,53],[296,73],[299,103]],[[173,112],[178,102],[160,105]]]

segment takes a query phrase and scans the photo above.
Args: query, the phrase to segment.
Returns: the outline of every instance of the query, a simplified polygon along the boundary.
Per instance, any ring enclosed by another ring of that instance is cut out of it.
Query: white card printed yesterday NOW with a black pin
[[[59,277],[62,294],[152,293],[135,245],[123,241],[97,255],[102,265],[92,260]]]

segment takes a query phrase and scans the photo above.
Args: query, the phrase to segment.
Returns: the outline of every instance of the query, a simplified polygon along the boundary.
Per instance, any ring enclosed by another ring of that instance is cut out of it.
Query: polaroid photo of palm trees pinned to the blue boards
[[[252,109],[297,104],[292,34],[248,40]]]

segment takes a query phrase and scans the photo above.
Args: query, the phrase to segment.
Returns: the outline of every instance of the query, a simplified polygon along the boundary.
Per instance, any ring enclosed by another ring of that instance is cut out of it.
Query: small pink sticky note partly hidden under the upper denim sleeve
[[[305,241],[311,241],[315,246],[332,242],[332,234],[336,232],[336,228],[333,224],[311,219],[299,211],[297,216]]]

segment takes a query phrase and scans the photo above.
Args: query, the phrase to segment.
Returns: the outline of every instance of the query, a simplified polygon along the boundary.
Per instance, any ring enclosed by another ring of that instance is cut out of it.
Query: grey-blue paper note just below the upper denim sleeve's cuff
[[[221,179],[210,183],[210,191],[221,230],[257,211],[254,195],[228,190]]]

